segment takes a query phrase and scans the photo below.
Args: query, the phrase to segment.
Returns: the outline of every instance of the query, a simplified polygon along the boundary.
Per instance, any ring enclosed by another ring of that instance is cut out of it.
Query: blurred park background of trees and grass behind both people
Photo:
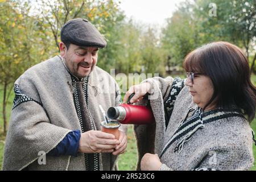
[[[164,1],[160,2],[164,7]],[[164,26],[139,22],[127,16],[121,6],[122,1],[106,0],[0,0],[0,168],[14,81],[32,65],[59,55],[60,28],[72,18],[88,19],[105,36],[108,46],[98,53],[97,65],[107,72],[115,69],[115,74],[158,73],[184,78],[182,63],[188,52],[224,40],[243,49],[256,84],[255,0],[180,0],[163,20]],[[147,9],[147,1],[142,8]],[[251,127],[256,131],[256,119]],[[118,164],[121,170],[134,170],[137,147],[132,125],[127,135],[127,150],[119,156]]]

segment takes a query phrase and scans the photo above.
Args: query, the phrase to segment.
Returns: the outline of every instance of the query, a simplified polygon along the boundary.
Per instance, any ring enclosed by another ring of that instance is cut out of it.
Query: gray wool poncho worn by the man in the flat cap
[[[41,164],[40,151],[47,154],[72,130],[101,130],[104,118],[98,105],[107,110],[119,105],[121,98],[118,85],[107,72],[95,67],[89,79],[78,81],[59,56],[24,72],[15,81],[14,91],[3,170],[86,170],[87,154],[46,155],[46,164]],[[86,102],[89,114],[83,112],[82,102]],[[85,123],[85,119],[90,123]],[[119,130],[126,132],[126,126]],[[116,169],[117,156],[111,153],[90,157],[95,169]]]

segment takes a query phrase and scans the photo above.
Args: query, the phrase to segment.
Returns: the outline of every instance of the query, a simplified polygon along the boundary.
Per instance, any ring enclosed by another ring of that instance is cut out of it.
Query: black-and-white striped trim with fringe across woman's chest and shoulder
[[[191,108],[189,108],[190,110]],[[187,117],[187,116],[186,116]],[[162,158],[164,152],[173,144],[176,140],[184,137],[180,142],[177,143],[175,147],[176,151],[181,151],[183,144],[191,139],[192,135],[197,131],[197,129],[204,127],[204,124],[217,121],[218,119],[229,118],[229,117],[243,117],[240,112],[237,111],[225,111],[225,109],[218,108],[216,110],[201,112],[201,109],[197,107],[195,113],[187,121],[185,119],[181,122],[181,125],[175,131],[174,135],[168,140],[167,144],[164,146],[163,151],[160,154]]]

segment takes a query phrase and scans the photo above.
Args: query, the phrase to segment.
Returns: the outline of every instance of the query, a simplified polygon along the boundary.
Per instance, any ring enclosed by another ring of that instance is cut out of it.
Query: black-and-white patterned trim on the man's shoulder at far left
[[[11,110],[13,110],[15,107],[22,104],[23,102],[28,102],[28,101],[34,101],[37,104],[42,106],[42,104],[40,104],[38,101],[35,101],[32,98],[23,94],[19,88],[19,85],[17,85],[17,84],[14,84],[14,93],[15,93],[15,98],[13,100],[13,108]]]

